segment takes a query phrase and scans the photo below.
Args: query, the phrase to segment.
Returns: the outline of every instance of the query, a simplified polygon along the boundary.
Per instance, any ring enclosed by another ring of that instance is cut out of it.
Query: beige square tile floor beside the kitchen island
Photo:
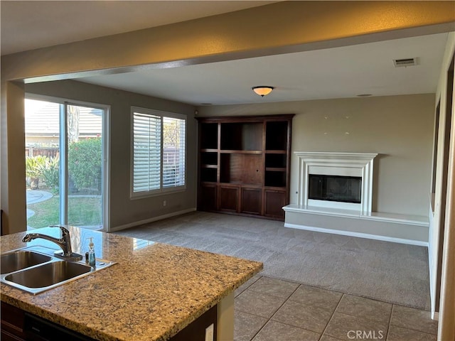
[[[235,292],[235,341],[437,340],[437,321],[408,308],[266,276]]]

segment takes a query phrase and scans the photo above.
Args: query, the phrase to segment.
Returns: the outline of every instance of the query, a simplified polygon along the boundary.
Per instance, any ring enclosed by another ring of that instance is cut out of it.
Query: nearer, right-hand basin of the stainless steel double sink
[[[17,283],[27,288],[45,288],[54,284],[69,281],[77,276],[87,274],[90,266],[70,261],[53,261],[31,269],[17,271],[5,276],[5,281]]]

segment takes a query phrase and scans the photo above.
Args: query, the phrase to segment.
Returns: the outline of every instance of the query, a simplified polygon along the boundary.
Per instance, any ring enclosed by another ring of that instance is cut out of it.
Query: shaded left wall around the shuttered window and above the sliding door
[[[28,84],[26,92],[110,106],[109,222],[112,229],[196,207],[197,138],[196,119],[193,118],[194,107],[72,80]],[[185,192],[129,199],[131,106],[187,115],[187,188]],[[166,207],[163,207],[163,200],[166,200]]]

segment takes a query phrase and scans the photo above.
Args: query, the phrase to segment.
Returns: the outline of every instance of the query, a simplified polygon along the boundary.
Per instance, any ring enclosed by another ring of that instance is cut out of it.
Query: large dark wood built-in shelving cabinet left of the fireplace
[[[198,210],[284,220],[292,117],[198,118]]]

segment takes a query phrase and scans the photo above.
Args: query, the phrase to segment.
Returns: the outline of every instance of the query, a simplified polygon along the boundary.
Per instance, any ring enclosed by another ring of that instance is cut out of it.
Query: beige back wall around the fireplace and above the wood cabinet
[[[379,153],[373,211],[427,215],[434,94],[199,107],[199,116],[296,114],[292,151]],[[348,133],[348,134],[347,134]],[[299,165],[291,158],[291,203]]]

